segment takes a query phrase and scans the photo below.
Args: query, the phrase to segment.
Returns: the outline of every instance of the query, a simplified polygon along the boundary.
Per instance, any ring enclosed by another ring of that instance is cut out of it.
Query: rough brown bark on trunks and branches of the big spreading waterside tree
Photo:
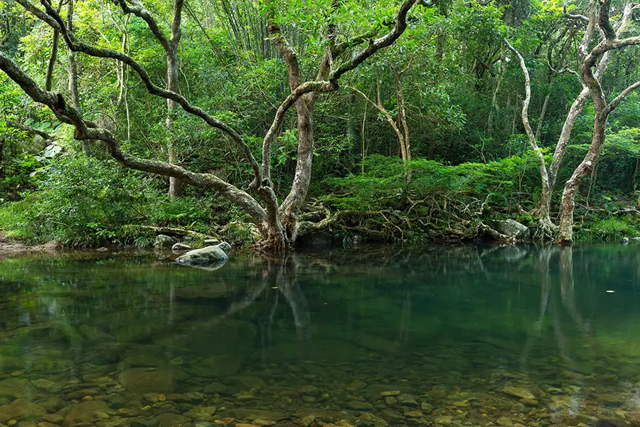
[[[9,75],[11,80],[14,80],[14,82],[20,85],[22,90],[34,101],[47,105],[56,117],[58,117],[58,120],[73,125],[75,129],[75,139],[82,141],[95,139],[104,142],[111,156],[125,167],[175,177],[186,184],[215,189],[229,201],[238,204],[238,206],[250,216],[251,221],[257,225],[262,234],[263,241],[260,242],[259,248],[276,253],[287,251],[291,248],[292,243],[294,243],[298,230],[297,214],[300,209],[302,209],[302,204],[309,191],[314,149],[312,119],[316,97],[320,93],[337,90],[338,80],[342,75],[358,67],[358,65],[370,58],[370,56],[373,56],[373,54],[380,49],[393,44],[407,28],[407,14],[417,2],[417,0],[403,0],[395,16],[393,27],[388,33],[380,37],[377,37],[380,26],[374,26],[360,36],[334,45],[334,32],[337,31],[337,28],[333,24],[330,25],[325,55],[321,60],[316,80],[306,81],[304,83],[302,83],[302,78],[300,78],[295,52],[288,46],[284,36],[282,36],[279,31],[272,33],[272,35],[274,35],[274,41],[277,45],[280,45],[278,47],[289,68],[289,87],[291,88],[291,93],[279,105],[272,125],[263,139],[261,168],[253,156],[249,145],[237,131],[233,130],[229,125],[220,122],[220,120],[215,119],[215,117],[208,115],[208,113],[201,108],[192,105],[183,95],[174,92],[174,90],[160,88],[158,85],[155,85],[151,81],[149,73],[129,55],[107,48],[97,48],[78,41],[73,33],[68,31],[60,15],[53,9],[48,1],[42,2],[46,9],[45,11],[33,6],[28,0],[16,1],[31,12],[31,14],[38,17],[38,19],[44,21],[53,29],[60,31],[70,51],[82,52],[97,58],[112,58],[121,61],[139,75],[149,93],[176,102],[184,111],[201,117],[201,119],[211,127],[215,127],[230,136],[238,145],[240,152],[242,152],[247,163],[253,170],[254,179],[249,185],[249,189],[260,196],[262,205],[247,192],[223,181],[218,178],[218,176],[194,173],[171,162],[142,159],[123,152],[118,140],[111,132],[98,127],[95,123],[84,120],[80,111],[75,109],[73,105],[65,102],[62,95],[42,90],[33,79],[29,78],[23,70],[18,68],[16,63],[4,55],[4,53],[0,52],[0,69]],[[166,38],[154,17],[148,10],[144,9],[141,2],[116,1],[124,14],[134,14],[147,23],[147,26],[149,26],[149,29],[159,43],[161,43],[165,51],[171,50],[171,40]],[[172,40],[175,41],[176,45],[179,37],[174,38],[173,35],[179,33],[179,16],[175,12],[177,5],[182,3],[183,0],[176,0],[174,4]],[[339,6],[338,0],[334,0],[332,4],[335,8]],[[176,17],[178,17],[178,19],[176,19]],[[361,47],[363,45],[365,46]],[[348,49],[353,49],[355,52],[348,60],[344,60],[337,68],[334,68],[334,60],[348,51]],[[282,206],[279,206],[270,174],[271,146],[278,135],[287,110],[294,105],[297,109],[298,126],[300,127],[298,160],[292,189],[282,203]]]

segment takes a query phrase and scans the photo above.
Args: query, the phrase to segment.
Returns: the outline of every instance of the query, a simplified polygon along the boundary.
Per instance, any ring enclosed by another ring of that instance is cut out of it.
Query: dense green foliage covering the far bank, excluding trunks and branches
[[[332,58],[336,68],[388,31],[399,2],[346,0],[334,9],[336,3],[329,0],[190,1],[183,11],[178,45],[180,92],[244,135],[260,159],[262,137],[277,106],[290,93],[287,65],[266,32],[267,12],[296,51],[304,78],[314,78],[330,41],[339,45],[377,31],[363,44],[347,48],[345,56]],[[161,31],[169,34],[171,2],[149,0],[144,4]],[[550,60],[558,70],[575,68],[575,41],[582,30],[567,30],[564,6],[561,0],[434,0],[415,6],[400,40],[345,75],[341,90],[318,95],[311,194],[333,209],[398,211],[412,219],[434,222],[442,218],[445,223],[456,218],[463,222],[477,219],[473,217],[486,201],[482,215],[533,221],[528,214],[519,214],[517,206],[533,206],[540,178],[521,125],[522,73],[503,38],[508,37],[526,59],[532,90],[529,118],[534,130],[549,95],[540,145],[550,152],[581,90],[574,75],[556,75],[548,64]],[[570,2],[567,6],[583,13],[585,4]],[[0,28],[3,52],[42,85],[52,48],[51,29],[13,1],[0,1],[0,13],[7,23]],[[65,14],[63,8],[63,18]],[[75,4],[74,26],[81,41],[126,51],[157,85],[166,81],[166,55],[142,19],[128,19],[113,4],[87,0]],[[331,26],[337,31],[327,37]],[[124,44],[123,31],[127,33]],[[68,51],[63,41],[59,47],[53,91],[68,99]],[[602,80],[605,92],[612,96],[640,78],[634,49],[617,51],[615,57],[617,63],[609,66]],[[166,100],[150,95],[130,68],[82,54],[76,60],[83,115],[112,131],[127,152],[166,160],[167,142],[171,141],[178,164],[247,189],[252,171],[219,130],[180,108],[167,130]],[[123,78],[127,83],[124,93]],[[374,102],[379,99],[394,118],[398,117],[398,89],[402,87],[414,159],[410,174],[398,158],[398,139],[388,122],[380,120],[375,107],[348,86]],[[585,179],[580,189],[587,194],[588,186],[591,201],[607,213],[622,206],[622,200],[628,199],[625,193],[636,190],[639,111],[636,94],[619,105],[609,119],[609,134],[594,179]],[[559,184],[584,156],[593,119],[593,107],[587,103],[572,132]],[[0,224],[16,236],[33,241],[55,239],[71,246],[132,241],[145,246],[150,236],[142,228],[124,228],[144,224],[202,233],[222,226],[232,238],[252,239],[239,209],[213,193],[187,189],[185,197],[170,199],[164,195],[166,179],[105,163],[110,154],[97,142],[91,143],[92,159],[70,154],[48,161],[23,154],[21,147],[30,138],[10,122],[55,134],[67,153],[80,152],[81,146],[73,139],[71,127],[60,125],[49,110],[34,105],[0,73],[0,203],[16,201],[1,207]],[[296,127],[292,109],[272,147],[272,180],[280,199],[286,196],[295,173]],[[556,191],[554,197],[558,196]],[[602,227],[611,228],[606,223]],[[419,240],[424,230],[414,231]],[[341,233],[350,236],[349,231]],[[614,232],[606,233],[602,236]]]

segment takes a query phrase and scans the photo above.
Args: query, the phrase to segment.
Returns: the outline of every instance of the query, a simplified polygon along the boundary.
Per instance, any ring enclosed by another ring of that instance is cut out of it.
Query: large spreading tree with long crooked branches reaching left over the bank
[[[171,127],[173,117],[175,117],[171,112],[174,107],[179,106],[189,115],[200,117],[206,125],[220,130],[230,137],[242,154],[244,162],[250,167],[252,179],[250,182],[247,180],[246,189],[240,189],[213,174],[197,173],[172,162],[144,159],[127,153],[122,149],[119,139],[114,133],[83,117],[73,100],[69,102],[60,93],[53,93],[41,88],[16,61],[3,51],[0,51],[0,70],[3,70],[11,80],[14,80],[32,100],[49,107],[58,120],[72,125],[75,139],[103,142],[110,155],[125,167],[169,176],[179,179],[185,184],[218,191],[225,199],[240,206],[249,216],[250,221],[255,223],[262,236],[258,248],[268,252],[289,250],[299,233],[298,216],[303,208],[311,183],[311,167],[314,157],[314,107],[319,95],[338,90],[338,81],[343,75],[357,68],[380,49],[386,48],[398,40],[407,28],[407,15],[414,6],[420,4],[420,0],[402,0],[393,21],[380,19],[371,23],[368,28],[363,28],[358,35],[347,37],[347,30],[341,27],[341,21],[338,19],[340,14],[346,13],[345,5],[338,0],[331,0],[326,11],[328,19],[323,36],[324,54],[316,67],[314,78],[305,79],[301,58],[292,48],[287,40],[286,32],[281,28],[280,5],[274,1],[262,0],[260,13],[264,14],[267,21],[271,41],[277,46],[277,50],[287,64],[290,93],[277,107],[270,128],[262,139],[260,153],[262,159],[259,162],[252,152],[247,138],[238,130],[213,117],[203,108],[194,105],[184,95],[178,93],[178,85],[173,81],[173,78],[175,78],[176,46],[180,40],[184,0],[174,0],[170,36],[162,31],[161,24],[156,20],[154,14],[146,9],[142,1],[113,0],[123,14],[144,21],[157,43],[166,53],[168,75],[172,81],[169,81],[165,87],[155,83],[147,70],[127,53],[93,46],[78,39],[70,28],[71,20],[63,19],[59,13],[60,8],[53,6],[50,0],[41,0],[42,7],[36,6],[30,0],[16,1],[26,11],[59,33],[69,51],[94,58],[110,58],[133,70],[151,95],[164,98],[168,102],[169,115],[166,125],[168,128]],[[297,164],[292,188],[284,200],[279,200],[272,181],[272,144],[277,139],[287,111],[291,107],[295,108],[297,115]],[[170,149],[175,149],[175,147],[170,147]]]

